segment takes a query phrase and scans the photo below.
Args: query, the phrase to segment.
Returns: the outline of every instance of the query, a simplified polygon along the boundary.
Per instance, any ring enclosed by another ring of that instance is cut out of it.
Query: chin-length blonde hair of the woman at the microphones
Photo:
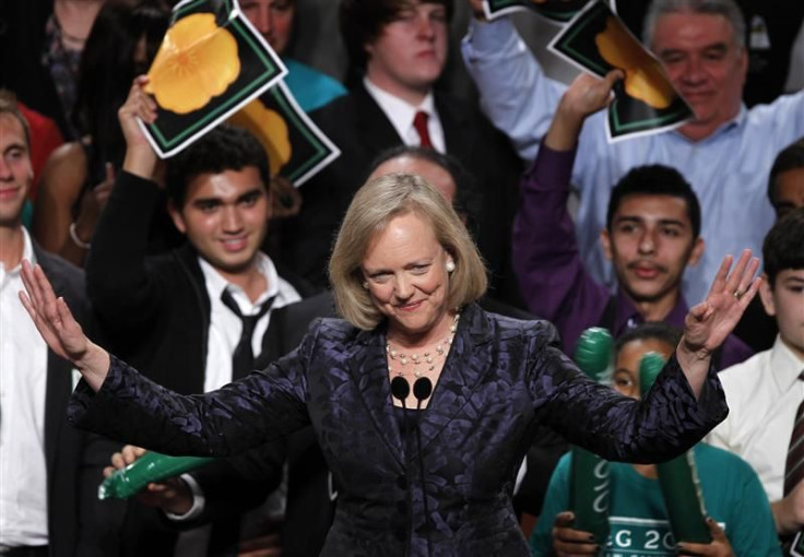
[[[330,259],[330,283],[339,313],[370,330],[383,316],[363,286],[363,260],[374,238],[400,215],[415,213],[433,226],[436,240],[452,257],[456,270],[447,292],[449,307],[477,300],[488,280],[477,247],[452,206],[424,178],[389,174],[366,182],[355,194],[341,224]]]

